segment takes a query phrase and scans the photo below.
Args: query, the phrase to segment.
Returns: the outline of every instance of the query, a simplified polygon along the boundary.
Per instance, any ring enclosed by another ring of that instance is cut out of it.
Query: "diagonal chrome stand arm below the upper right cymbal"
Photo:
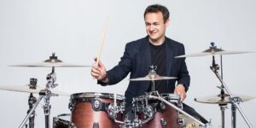
[[[218,73],[218,64],[215,63],[214,55],[212,55],[212,66],[210,67],[212,69],[212,72],[215,73],[218,80],[221,82],[221,84],[224,87],[224,90],[227,91],[228,95],[230,95],[230,101],[231,105],[234,107],[234,111],[232,113],[236,113],[236,109],[241,113],[242,118],[246,121],[247,125],[252,128],[252,125],[248,121],[246,115],[242,112],[241,107],[239,106],[239,103],[241,102],[241,99],[239,97],[232,96],[230,90],[228,89],[227,85],[224,83],[224,80],[221,78],[221,76]],[[235,116],[236,114],[232,114],[232,116]],[[236,117],[232,117],[232,128],[236,128]]]

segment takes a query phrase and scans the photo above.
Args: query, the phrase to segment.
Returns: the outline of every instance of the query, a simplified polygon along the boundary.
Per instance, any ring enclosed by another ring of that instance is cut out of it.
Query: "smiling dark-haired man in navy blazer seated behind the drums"
[[[174,58],[185,54],[183,44],[166,38],[166,27],[170,24],[169,11],[159,4],[150,5],[144,12],[144,20],[147,37],[126,44],[124,55],[113,69],[107,72],[99,61],[98,65],[94,64],[90,73],[98,80],[98,84],[117,84],[128,73],[131,73],[130,79],[147,76],[148,67],[154,65],[158,75],[177,77],[155,81],[155,90],[159,93],[175,93],[183,101],[189,90],[190,77],[185,60]],[[151,91],[150,81],[130,81],[125,91],[125,112],[128,116],[131,116],[132,98],[143,96],[148,91]]]

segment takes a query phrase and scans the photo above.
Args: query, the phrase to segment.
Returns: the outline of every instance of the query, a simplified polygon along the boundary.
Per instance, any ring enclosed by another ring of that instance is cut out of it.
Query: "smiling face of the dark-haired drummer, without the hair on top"
[[[159,44],[164,41],[166,34],[166,26],[169,24],[169,19],[164,21],[161,12],[148,13],[145,15],[146,31],[149,41],[153,44]]]

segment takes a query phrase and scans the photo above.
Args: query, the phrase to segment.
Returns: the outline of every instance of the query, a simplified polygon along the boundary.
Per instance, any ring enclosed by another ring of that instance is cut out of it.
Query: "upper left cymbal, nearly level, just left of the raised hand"
[[[53,54],[52,56],[49,56],[48,60],[45,60],[43,62],[13,65],[9,67],[91,67],[91,66],[63,62],[59,60],[58,57],[55,56],[55,54]]]

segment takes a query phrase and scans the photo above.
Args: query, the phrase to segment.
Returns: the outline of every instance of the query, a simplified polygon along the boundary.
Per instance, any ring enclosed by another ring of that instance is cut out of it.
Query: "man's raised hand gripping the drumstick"
[[[98,65],[96,64],[96,61],[93,63],[90,71],[90,75],[94,77],[97,80],[104,79],[106,77],[106,68],[102,64],[101,61],[99,61]]]

